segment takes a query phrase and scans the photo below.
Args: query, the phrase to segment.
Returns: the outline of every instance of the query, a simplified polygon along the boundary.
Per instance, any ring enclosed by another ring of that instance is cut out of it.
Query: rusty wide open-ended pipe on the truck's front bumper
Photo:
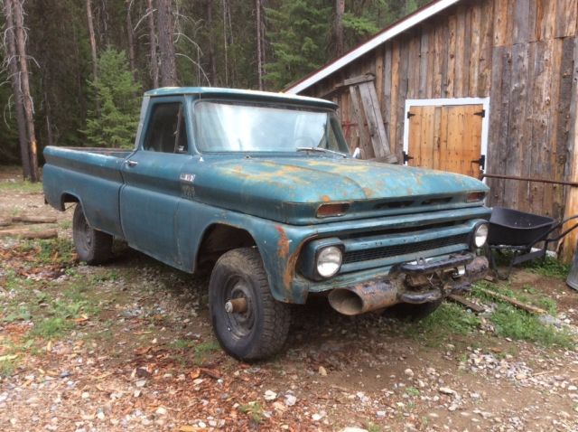
[[[365,314],[396,303],[397,288],[385,281],[335,288],[329,294],[329,304],[343,315]]]

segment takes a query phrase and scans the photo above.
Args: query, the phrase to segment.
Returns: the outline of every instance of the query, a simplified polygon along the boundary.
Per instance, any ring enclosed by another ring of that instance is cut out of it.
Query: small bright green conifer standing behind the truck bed
[[[100,116],[89,110],[84,131],[90,145],[131,147],[138,126],[141,87],[128,66],[124,51],[108,48],[98,59],[98,78],[89,84],[98,94]]]

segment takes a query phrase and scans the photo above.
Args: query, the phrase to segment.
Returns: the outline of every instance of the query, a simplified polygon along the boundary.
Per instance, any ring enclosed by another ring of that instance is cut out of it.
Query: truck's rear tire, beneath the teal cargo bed
[[[72,216],[72,239],[80,261],[95,265],[105,262],[112,254],[112,236],[90,228],[80,203]]]

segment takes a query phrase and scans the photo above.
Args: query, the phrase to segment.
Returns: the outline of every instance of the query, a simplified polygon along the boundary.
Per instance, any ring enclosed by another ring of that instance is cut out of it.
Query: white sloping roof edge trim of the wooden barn
[[[460,0],[435,0],[432,3],[425,5],[421,9],[418,9],[413,14],[407,15],[405,18],[397,21],[396,23],[386,27],[381,32],[377,33],[368,42],[360,44],[357,48],[354,48],[350,52],[342,55],[341,57],[329,62],[320,70],[315,70],[309,75],[305,76],[303,79],[298,80],[289,85],[284,89],[285,93],[297,94],[311,87],[313,84],[323,80],[324,78],[331,75],[331,73],[340,70],[344,66],[350,64],[350,62],[359,59],[362,55],[370,52],[374,48],[378,47],[384,42],[396,37],[399,33],[406,32],[409,28],[422,23],[434,14],[442,12],[444,9],[455,5],[460,2]]]

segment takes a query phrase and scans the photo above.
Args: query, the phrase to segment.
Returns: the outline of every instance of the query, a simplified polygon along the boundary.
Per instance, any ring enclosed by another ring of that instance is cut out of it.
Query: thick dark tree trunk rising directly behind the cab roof
[[[159,0],[158,5],[161,86],[172,87],[177,85],[177,66],[172,40],[172,0]]]

